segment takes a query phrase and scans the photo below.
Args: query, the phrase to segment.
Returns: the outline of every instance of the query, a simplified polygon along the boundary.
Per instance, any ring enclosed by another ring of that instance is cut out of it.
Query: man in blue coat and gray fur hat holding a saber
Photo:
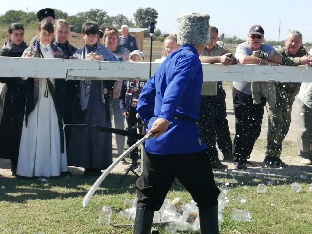
[[[177,177],[199,209],[201,233],[219,233],[217,188],[207,147],[198,126],[202,90],[199,55],[209,38],[209,15],[178,17],[179,50],[172,52],[144,85],[137,112],[149,133],[147,158],[136,183],[134,234],[149,234],[158,211]]]

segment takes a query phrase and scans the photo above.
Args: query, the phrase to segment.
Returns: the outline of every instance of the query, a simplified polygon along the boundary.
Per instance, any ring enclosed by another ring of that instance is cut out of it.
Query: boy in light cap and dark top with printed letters
[[[140,50],[132,51],[129,54],[129,61],[131,62],[142,62],[144,61],[144,54]],[[119,105],[120,110],[123,113],[124,117],[127,118],[127,124],[128,124],[128,130],[136,132],[136,129],[131,129],[129,127],[134,126],[135,124],[140,124],[141,119],[138,119],[136,117],[137,115],[137,104],[134,99],[137,99],[143,89],[143,86],[145,85],[145,81],[143,80],[127,80],[123,81],[122,87],[120,90],[120,96],[119,96]],[[138,140],[128,137],[127,144],[129,148],[134,145]],[[137,159],[138,159],[138,148],[136,148],[134,151],[130,153],[131,158],[131,167],[132,169],[138,168],[137,165]],[[128,168],[125,168],[125,170],[128,170]],[[139,168],[140,169],[140,168]]]

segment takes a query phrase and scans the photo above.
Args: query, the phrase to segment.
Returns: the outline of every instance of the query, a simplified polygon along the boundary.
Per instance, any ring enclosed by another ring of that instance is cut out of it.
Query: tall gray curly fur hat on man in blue
[[[209,15],[203,13],[180,15],[177,19],[178,45],[209,43],[209,18]]]

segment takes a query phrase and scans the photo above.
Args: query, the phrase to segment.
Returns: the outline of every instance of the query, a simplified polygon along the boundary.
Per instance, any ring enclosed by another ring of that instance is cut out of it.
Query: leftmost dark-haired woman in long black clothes
[[[11,24],[7,30],[8,40],[2,46],[0,56],[21,57],[27,48],[24,32],[22,24]],[[0,94],[0,156],[11,159],[11,172],[16,175],[26,89],[20,78],[0,78],[0,82],[5,83]]]

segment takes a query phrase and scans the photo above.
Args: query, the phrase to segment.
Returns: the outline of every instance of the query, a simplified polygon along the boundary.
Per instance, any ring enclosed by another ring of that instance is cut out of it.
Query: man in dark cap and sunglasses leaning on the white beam
[[[250,27],[248,41],[237,46],[235,57],[241,64],[279,64],[282,57],[273,46],[263,44],[264,30],[260,25]],[[275,83],[233,82],[233,105],[235,114],[234,162],[238,169],[246,164],[260,135],[263,110],[266,102],[275,108]]]

